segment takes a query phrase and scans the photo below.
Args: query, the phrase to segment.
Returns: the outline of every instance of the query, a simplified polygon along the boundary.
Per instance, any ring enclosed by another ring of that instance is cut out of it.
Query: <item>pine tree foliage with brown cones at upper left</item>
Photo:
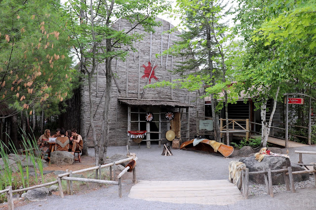
[[[0,1],[0,98],[14,110],[71,96],[71,40],[55,0]]]

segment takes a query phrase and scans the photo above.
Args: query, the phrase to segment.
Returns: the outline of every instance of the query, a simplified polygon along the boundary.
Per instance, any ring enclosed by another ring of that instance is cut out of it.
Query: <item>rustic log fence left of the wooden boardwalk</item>
[[[127,166],[119,175],[118,175],[118,181],[116,181],[116,177],[115,177],[115,171],[116,171],[116,165],[124,163],[124,162],[128,162],[131,160],[137,160],[137,157],[129,157],[123,160],[119,160],[119,161],[114,161],[113,163],[108,163],[108,164],[104,164],[104,165],[99,165],[99,166],[94,166],[91,168],[86,168],[86,169],[81,169],[78,171],[66,171],[66,173],[64,174],[60,174],[57,175],[57,180],[52,181],[52,182],[48,182],[48,183],[43,183],[43,184],[39,184],[39,185],[35,185],[32,187],[27,187],[27,188],[22,188],[22,189],[16,189],[16,190],[12,190],[12,186],[8,186],[6,187],[6,189],[4,190],[0,190],[0,194],[1,193],[6,193],[7,194],[7,203],[8,203],[8,210],[14,210],[14,204],[13,204],[13,199],[12,199],[12,195],[13,193],[16,192],[23,192],[23,191],[27,191],[27,190],[31,190],[31,189],[36,189],[36,188],[40,188],[40,187],[44,187],[44,186],[49,186],[49,185],[53,185],[53,184],[57,184],[58,183],[58,188],[59,188],[59,195],[60,197],[64,198],[64,192],[63,192],[63,188],[61,185],[61,180],[66,180],[67,181],[67,194],[73,195],[74,191],[73,191],[73,181],[84,181],[84,182],[94,182],[94,183],[101,183],[101,184],[114,184],[114,185],[118,185],[118,196],[121,198],[122,197],[122,185],[121,185],[121,176],[124,175],[127,170],[129,169],[129,166]],[[113,166],[113,178],[112,178],[112,166]],[[106,168],[106,167],[110,167],[110,177],[111,180],[101,180],[101,169],[102,168]],[[135,167],[136,168],[136,167]],[[133,169],[133,183],[137,182],[137,178],[136,178],[136,169]],[[95,179],[91,179],[91,178],[78,178],[78,177],[73,177],[74,174],[79,174],[82,172],[88,172],[88,171],[93,171],[95,170]],[[99,179],[98,179],[99,178]],[[114,180],[112,180],[114,179]]]

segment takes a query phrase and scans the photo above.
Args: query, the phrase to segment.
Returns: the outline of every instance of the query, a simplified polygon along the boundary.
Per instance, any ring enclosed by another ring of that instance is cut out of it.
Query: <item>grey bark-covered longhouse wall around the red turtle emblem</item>
[[[157,21],[161,21],[158,19]],[[117,21],[114,28],[119,30],[129,30],[131,24],[125,20]],[[171,25],[171,29],[174,26]],[[137,27],[134,30],[134,33],[144,34],[145,37],[141,41],[134,43],[134,47],[138,49],[138,52],[130,51],[125,61],[114,59],[112,62],[112,70],[118,76],[118,86],[120,93],[117,91],[117,86],[114,81],[112,84],[112,100],[111,100],[111,110],[110,110],[110,142],[109,145],[126,145],[127,142],[127,105],[122,105],[118,103],[118,98],[140,98],[144,92],[143,99],[166,99],[166,100],[178,100],[182,103],[188,103],[192,105],[197,105],[197,108],[190,108],[190,137],[193,137],[196,130],[195,117],[198,115],[204,115],[204,100],[197,99],[199,93],[189,93],[188,91],[182,89],[173,89],[170,87],[156,88],[156,89],[146,89],[144,86],[147,84],[148,78],[142,79],[144,75],[144,67],[148,66],[148,62],[151,61],[152,66],[156,62],[157,68],[155,69],[155,76],[158,78],[158,81],[180,78],[179,75],[171,75],[171,72],[168,70],[176,68],[178,62],[183,61],[183,58],[167,57],[162,56],[156,58],[156,54],[161,51],[166,50],[172,46],[174,41],[179,37],[178,31],[165,33],[170,29],[170,23],[162,20],[162,27],[155,27],[155,33],[146,33],[142,30],[141,27]],[[161,39],[162,38],[162,39]],[[162,42],[161,42],[162,40]],[[162,45],[161,45],[162,43]],[[156,66],[155,65],[155,66]],[[127,82],[126,82],[127,81]],[[152,78],[151,84],[155,83],[157,80]],[[102,124],[102,112],[104,107],[104,97],[102,95],[105,91],[106,78],[105,78],[105,63],[100,63],[97,66],[97,73],[94,77],[93,85],[93,109],[96,112],[95,115],[95,125],[97,131],[97,139],[100,137],[101,124]],[[140,91],[138,91],[138,89]],[[88,86],[85,85],[86,99],[88,99]],[[171,110],[171,109],[170,109]],[[86,131],[89,130],[89,101],[85,103],[85,122],[86,122]],[[183,114],[182,121],[185,121],[185,114]],[[164,133],[161,135],[164,137]],[[88,145],[93,146],[91,140],[91,130],[87,135]]]

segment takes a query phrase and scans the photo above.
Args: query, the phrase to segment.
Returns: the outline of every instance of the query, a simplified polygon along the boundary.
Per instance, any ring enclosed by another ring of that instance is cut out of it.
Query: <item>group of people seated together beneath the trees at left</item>
[[[55,143],[50,143],[49,138],[56,138]],[[46,129],[45,133],[40,136],[38,145],[42,153],[42,157],[46,159],[51,152],[51,145],[55,145],[54,150],[69,151],[75,155],[76,151],[82,151],[83,141],[82,137],[77,134],[77,129],[75,128],[67,131],[63,128],[58,128],[56,129],[56,134],[53,136],[50,136],[50,130]]]

